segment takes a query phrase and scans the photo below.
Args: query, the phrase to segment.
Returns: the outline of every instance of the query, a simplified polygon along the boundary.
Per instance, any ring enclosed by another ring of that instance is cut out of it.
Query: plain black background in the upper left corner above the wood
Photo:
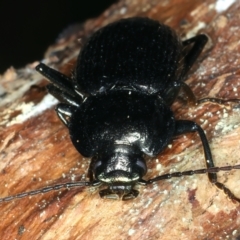
[[[97,17],[117,0],[0,0],[0,74],[41,60],[69,25]]]

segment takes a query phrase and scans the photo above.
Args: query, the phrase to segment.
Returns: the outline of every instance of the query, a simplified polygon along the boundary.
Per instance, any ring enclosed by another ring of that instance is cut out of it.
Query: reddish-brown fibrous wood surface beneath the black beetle
[[[197,98],[239,98],[239,12],[238,0],[122,0],[98,18],[66,30],[48,49],[44,62],[71,75],[82,43],[94,31],[123,17],[147,16],[173,27],[183,39],[198,33],[209,36],[187,80]],[[0,79],[1,197],[85,179],[89,166],[57,118],[56,101],[44,89],[47,81],[35,72],[36,64],[8,69]],[[176,102],[172,109],[177,119],[194,120],[204,128],[217,166],[240,163],[239,104],[189,108]],[[205,167],[198,135],[174,139],[147,164],[146,179]],[[239,171],[219,173],[219,180],[240,197]],[[240,205],[207,176],[194,175],[141,187],[139,197],[128,202],[103,200],[97,189],[81,188],[2,203],[0,236],[4,240],[239,239],[239,212]]]

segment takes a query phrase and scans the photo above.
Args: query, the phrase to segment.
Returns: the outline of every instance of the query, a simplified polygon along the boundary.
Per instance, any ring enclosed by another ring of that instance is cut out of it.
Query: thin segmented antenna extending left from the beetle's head
[[[24,198],[27,196],[33,196],[33,195],[37,195],[40,193],[47,193],[47,192],[51,192],[51,191],[56,191],[59,189],[63,189],[63,188],[75,188],[75,187],[82,187],[82,186],[96,186],[99,185],[99,182],[93,181],[93,182],[70,182],[70,183],[60,183],[60,184],[56,184],[53,186],[49,186],[49,187],[44,187],[44,188],[40,188],[37,190],[32,190],[29,192],[23,192],[23,193],[19,193],[16,195],[12,195],[12,196],[8,196],[8,197],[4,197],[4,198],[0,198],[0,203],[2,202],[9,202],[12,201],[14,199],[20,199],[20,198]]]

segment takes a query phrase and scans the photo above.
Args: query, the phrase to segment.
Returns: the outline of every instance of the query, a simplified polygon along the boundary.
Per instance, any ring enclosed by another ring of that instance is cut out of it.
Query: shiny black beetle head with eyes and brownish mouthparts
[[[95,157],[91,168],[95,179],[108,185],[107,189],[99,192],[100,196],[122,200],[138,196],[138,191],[133,187],[147,171],[143,154],[123,145]]]

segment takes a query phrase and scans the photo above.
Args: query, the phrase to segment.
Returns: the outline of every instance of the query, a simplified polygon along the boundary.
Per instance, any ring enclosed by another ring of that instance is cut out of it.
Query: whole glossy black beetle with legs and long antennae
[[[175,120],[170,109],[180,90],[189,102],[197,102],[184,80],[206,42],[202,34],[180,41],[166,25],[129,18],[109,24],[89,38],[73,79],[40,63],[36,70],[49,79],[49,93],[61,102],[56,112],[69,129],[73,145],[84,157],[92,158],[90,181],[58,184],[0,201],[101,184],[108,186],[99,192],[101,197],[128,200],[137,197],[136,184],[203,173],[231,199],[240,201],[217,181],[216,174],[240,169],[240,165],[214,167],[203,129],[193,121]],[[145,156],[158,155],[173,137],[189,132],[197,132],[201,138],[207,169],[144,180]]]

